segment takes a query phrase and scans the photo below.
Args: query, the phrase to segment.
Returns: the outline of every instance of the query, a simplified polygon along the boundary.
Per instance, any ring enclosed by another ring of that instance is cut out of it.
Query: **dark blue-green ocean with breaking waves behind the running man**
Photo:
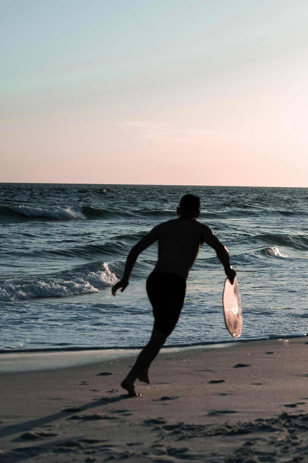
[[[152,329],[143,252],[125,292],[111,294],[129,250],[176,218],[182,195],[201,198],[199,220],[227,246],[243,307],[240,339],[308,332],[308,188],[0,184],[0,350],[126,348]],[[167,345],[232,341],[225,275],[203,244]]]

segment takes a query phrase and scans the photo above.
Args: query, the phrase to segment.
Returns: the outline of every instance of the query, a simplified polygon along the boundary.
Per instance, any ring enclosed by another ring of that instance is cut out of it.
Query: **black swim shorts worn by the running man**
[[[169,336],[183,307],[186,281],[173,273],[152,272],[146,281],[146,292],[153,307],[154,328]]]

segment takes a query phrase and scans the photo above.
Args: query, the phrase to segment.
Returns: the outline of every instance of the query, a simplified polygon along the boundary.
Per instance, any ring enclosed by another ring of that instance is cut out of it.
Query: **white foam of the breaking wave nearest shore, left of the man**
[[[102,269],[97,269],[97,265],[93,270],[84,266],[61,275],[11,278],[0,285],[0,301],[97,293],[117,281],[107,263],[102,264]]]

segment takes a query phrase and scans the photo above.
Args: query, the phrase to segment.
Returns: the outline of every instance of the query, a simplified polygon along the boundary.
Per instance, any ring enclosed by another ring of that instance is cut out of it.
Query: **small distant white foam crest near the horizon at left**
[[[81,208],[76,206],[48,206],[48,207],[30,207],[30,206],[17,206],[11,207],[12,211],[18,214],[25,215],[26,217],[44,217],[46,219],[85,219]]]

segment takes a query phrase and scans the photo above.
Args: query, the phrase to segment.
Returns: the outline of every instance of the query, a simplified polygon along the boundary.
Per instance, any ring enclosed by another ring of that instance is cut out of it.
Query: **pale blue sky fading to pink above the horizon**
[[[0,0],[0,181],[308,187],[307,0]]]

